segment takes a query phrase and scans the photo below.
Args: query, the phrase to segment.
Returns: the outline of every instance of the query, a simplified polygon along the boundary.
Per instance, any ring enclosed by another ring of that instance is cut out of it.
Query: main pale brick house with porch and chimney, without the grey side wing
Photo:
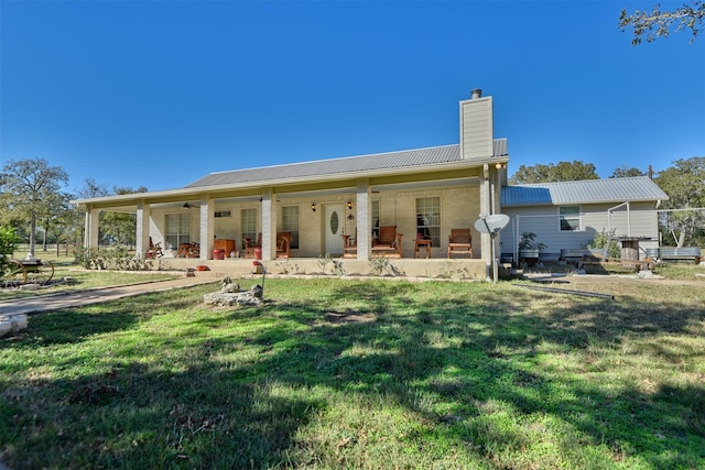
[[[473,90],[459,102],[459,121],[458,144],[212,173],[178,189],[73,203],[86,209],[87,247],[98,244],[100,211],[131,212],[139,255],[151,241],[172,266],[186,265],[186,256],[220,258],[219,249],[225,262],[236,260],[246,240],[250,247],[261,240],[261,258],[271,261],[281,232],[291,234],[291,258],[341,255],[347,234],[356,259],[369,263],[379,228],[389,226],[403,234],[402,259],[417,254],[417,234],[431,240],[432,259],[446,259],[452,229],[499,211],[509,161],[507,140],[494,138],[491,97]],[[474,259],[466,262],[485,277],[490,237],[475,229],[473,236]]]

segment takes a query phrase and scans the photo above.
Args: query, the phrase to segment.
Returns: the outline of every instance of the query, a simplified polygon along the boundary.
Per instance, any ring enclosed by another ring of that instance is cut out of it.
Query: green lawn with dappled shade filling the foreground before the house
[[[705,287],[615,282],[267,280],[259,308],[205,286],[35,315],[0,339],[0,460],[705,469]]]

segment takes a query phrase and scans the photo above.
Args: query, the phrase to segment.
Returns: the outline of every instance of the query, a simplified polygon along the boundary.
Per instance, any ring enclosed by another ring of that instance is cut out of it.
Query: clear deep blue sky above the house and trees
[[[705,36],[644,1],[0,1],[0,161],[69,190],[458,142],[481,88],[519,165],[705,156]],[[661,2],[664,9],[679,3]]]

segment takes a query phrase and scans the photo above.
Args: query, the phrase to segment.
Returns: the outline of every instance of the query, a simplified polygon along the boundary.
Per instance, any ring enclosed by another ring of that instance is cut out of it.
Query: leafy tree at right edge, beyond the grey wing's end
[[[683,247],[705,222],[703,210],[687,210],[705,207],[705,156],[676,160],[654,181],[669,195],[663,209],[679,209],[664,212],[662,223],[676,244]]]

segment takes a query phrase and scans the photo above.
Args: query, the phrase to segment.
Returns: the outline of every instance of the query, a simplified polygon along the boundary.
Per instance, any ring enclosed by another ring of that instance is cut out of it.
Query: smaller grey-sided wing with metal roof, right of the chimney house
[[[501,251],[519,260],[521,233],[532,232],[546,245],[543,256],[558,259],[596,233],[611,233],[643,258],[659,247],[657,209],[668,198],[648,176],[503,186],[501,210],[510,223],[500,234]]]

